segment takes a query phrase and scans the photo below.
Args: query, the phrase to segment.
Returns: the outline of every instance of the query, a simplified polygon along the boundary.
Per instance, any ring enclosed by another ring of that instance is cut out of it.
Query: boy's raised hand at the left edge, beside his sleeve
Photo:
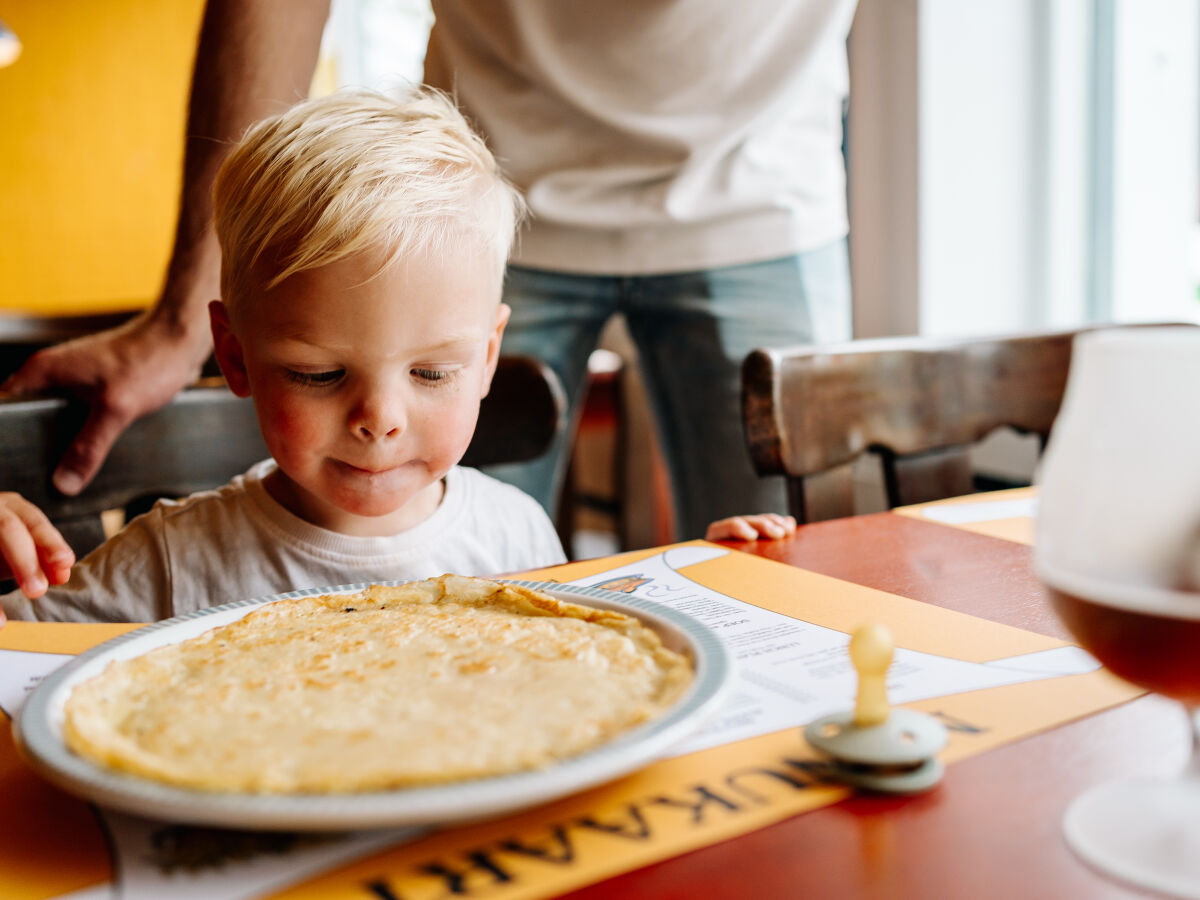
[[[74,551],[42,510],[20,494],[0,493],[0,575],[36,600],[50,584],[66,583],[73,564]]]

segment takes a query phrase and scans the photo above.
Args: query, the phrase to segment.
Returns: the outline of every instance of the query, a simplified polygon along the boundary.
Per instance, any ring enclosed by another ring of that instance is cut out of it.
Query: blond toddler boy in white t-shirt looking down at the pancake
[[[214,349],[271,458],[160,502],[78,565],[0,494],[13,618],[145,622],[350,581],[564,562],[541,506],[457,466],[496,370],[522,202],[442,95],[306,101],[252,127],[214,188]],[[709,536],[780,536],[737,517]],[[36,602],[31,602],[36,601]]]

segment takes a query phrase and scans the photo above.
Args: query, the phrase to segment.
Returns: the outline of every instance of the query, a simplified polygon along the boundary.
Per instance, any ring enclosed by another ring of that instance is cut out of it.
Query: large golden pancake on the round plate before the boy
[[[280,600],[77,685],[64,737],[181,787],[336,793],[544,768],[672,706],[631,616],[482,578]]]

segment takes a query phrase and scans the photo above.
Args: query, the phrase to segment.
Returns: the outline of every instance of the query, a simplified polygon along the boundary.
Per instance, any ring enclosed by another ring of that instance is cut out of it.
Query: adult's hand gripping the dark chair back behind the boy
[[[88,418],[54,472],[54,486],[79,493],[100,470],[121,432],[193,382],[211,349],[208,329],[179,328],[144,313],[119,328],[34,354],[0,390],[67,391],[88,403]]]

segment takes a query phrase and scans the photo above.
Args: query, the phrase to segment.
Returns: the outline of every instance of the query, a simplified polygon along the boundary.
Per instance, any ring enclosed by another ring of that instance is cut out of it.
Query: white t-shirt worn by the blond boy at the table
[[[263,486],[274,460],[214,491],[162,500],[38,600],[0,598],[13,619],[154,622],[286,590],[499,575],[565,562],[554,526],[521,490],[468,468],[445,476],[442,504],[402,534],[361,538],[310,524]]]

